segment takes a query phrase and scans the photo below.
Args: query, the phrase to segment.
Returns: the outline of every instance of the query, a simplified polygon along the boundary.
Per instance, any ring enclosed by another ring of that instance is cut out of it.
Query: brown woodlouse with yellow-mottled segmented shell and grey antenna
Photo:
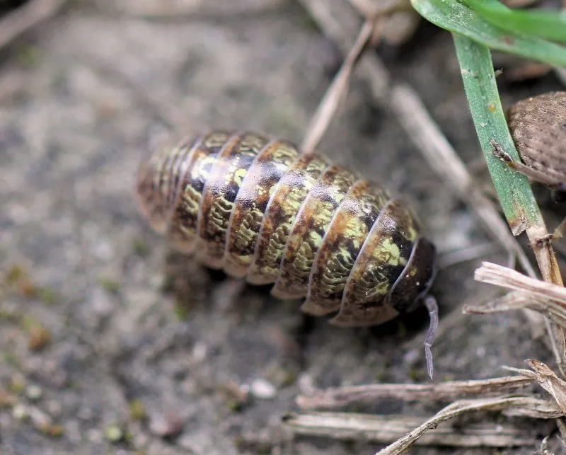
[[[142,160],[141,214],[173,248],[251,284],[271,284],[338,326],[376,326],[424,302],[436,272],[432,243],[412,209],[381,185],[301,154],[283,139],[214,131]]]

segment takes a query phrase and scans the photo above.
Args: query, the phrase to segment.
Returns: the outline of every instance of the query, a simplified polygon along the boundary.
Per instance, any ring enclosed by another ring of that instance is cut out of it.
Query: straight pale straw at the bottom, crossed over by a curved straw
[[[354,413],[291,414],[284,422],[296,434],[333,439],[364,439],[390,443],[422,423],[418,417],[403,415],[364,415]],[[536,444],[535,434],[525,434],[509,424],[470,424],[463,427],[442,425],[422,434],[415,445],[444,447],[513,447]],[[400,453],[400,452],[390,452]]]

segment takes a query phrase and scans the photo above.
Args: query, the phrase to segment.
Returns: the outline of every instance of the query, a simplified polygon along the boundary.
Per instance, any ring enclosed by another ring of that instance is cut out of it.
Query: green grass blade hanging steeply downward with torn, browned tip
[[[469,38],[454,34],[464,88],[475,130],[507,222],[515,235],[541,219],[529,180],[505,165],[492,153],[490,139],[519,161],[503,113],[490,50]]]

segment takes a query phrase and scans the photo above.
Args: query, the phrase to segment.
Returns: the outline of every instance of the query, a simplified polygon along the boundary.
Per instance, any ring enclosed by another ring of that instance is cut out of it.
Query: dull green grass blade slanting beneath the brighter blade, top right
[[[534,36],[510,33],[456,0],[411,0],[411,4],[427,21],[487,47],[553,67],[566,67],[566,47]]]

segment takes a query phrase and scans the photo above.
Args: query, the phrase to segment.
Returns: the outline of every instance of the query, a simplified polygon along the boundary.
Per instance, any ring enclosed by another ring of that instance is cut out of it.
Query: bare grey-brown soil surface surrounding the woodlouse
[[[236,127],[301,140],[340,56],[294,1],[266,4],[231,0],[226,14],[215,1],[166,20],[77,2],[3,53],[2,453],[373,454],[382,446],[294,438],[281,416],[312,386],[429,381],[425,311],[371,330],[329,326],[268,288],[169,253],[137,214],[137,163],[168,123],[178,134]],[[380,52],[463,159],[477,159],[449,35],[423,25]],[[552,75],[508,84],[503,100],[556,88]],[[489,241],[368,93],[354,78],[321,148],[407,195],[441,253]],[[554,366],[521,313],[461,316],[464,301],[492,290],[473,282],[481,260],[507,263],[494,246],[441,270],[434,285],[443,320],[435,381],[499,376],[527,358]],[[424,418],[439,408],[371,410]],[[525,428],[534,440],[553,431]],[[475,453],[486,452],[466,450]]]

